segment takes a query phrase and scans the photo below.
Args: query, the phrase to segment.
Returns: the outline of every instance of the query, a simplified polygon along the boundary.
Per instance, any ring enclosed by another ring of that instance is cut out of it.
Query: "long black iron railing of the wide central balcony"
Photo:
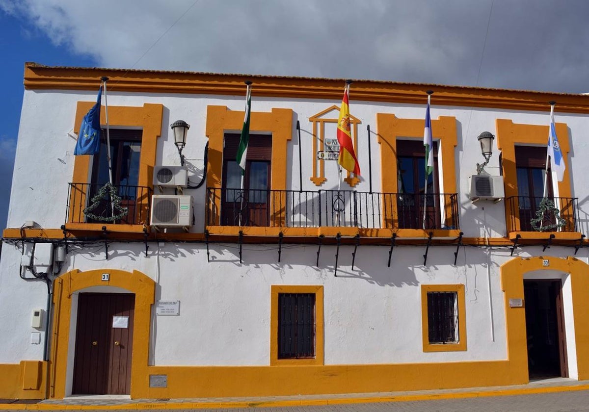
[[[456,194],[208,188],[206,202],[207,225],[458,229]]]

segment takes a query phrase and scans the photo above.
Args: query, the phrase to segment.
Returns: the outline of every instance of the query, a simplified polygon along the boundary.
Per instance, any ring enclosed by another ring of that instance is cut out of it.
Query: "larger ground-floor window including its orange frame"
[[[323,286],[272,286],[270,364],[323,364]]]

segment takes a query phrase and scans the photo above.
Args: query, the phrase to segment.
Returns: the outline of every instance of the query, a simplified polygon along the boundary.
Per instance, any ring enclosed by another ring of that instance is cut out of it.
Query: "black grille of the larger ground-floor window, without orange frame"
[[[278,358],[314,358],[315,293],[279,293],[278,308]]]

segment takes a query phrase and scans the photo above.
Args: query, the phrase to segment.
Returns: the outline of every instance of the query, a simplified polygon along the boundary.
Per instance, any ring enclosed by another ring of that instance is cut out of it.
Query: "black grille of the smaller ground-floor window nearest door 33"
[[[428,292],[429,343],[458,343],[458,293]]]

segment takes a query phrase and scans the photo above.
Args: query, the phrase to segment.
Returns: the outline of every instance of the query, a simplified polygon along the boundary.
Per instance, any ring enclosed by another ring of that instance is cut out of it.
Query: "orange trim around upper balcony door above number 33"
[[[546,106],[546,105],[545,105]],[[547,108],[545,108],[547,111]],[[517,172],[515,167],[515,146],[516,145],[535,145],[545,147],[548,143],[549,119],[548,111],[545,125],[530,125],[517,124],[511,119],[496,119],[495,127],[497,127],[497,147],[501,151],[502,167],[505,185],[505,199],[517,196]],[[558,142],[562,157],[565,161],[564,178],[558,184],[559,197],[572,197],[571,195],[571,162],[568,157],[570,152],[570,137],[568,135],[568,127],[565,123],[555,124]],[[519,230],[519,207],[517,200],[515,205],[511,202],[505,202],[505,218],[508,232],[517,232]],[[511,216],[513,215],[514,224],[512,224]],[[557,234],[557,232],[555,232]],[[577,236],[577,239],[581,235]]]

